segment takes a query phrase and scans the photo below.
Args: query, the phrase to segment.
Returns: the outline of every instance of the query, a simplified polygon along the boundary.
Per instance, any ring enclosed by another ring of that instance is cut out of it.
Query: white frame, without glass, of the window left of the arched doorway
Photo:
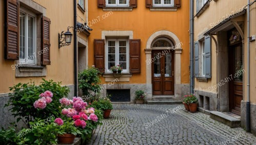
[[[117,39],[106,39],[106,45],[105,45],[105,72],[106,73],[112,73],[109,69],[109,42],[110,41],[115,41],[116,45],[116,49],[115,49],[115,66],[119,65],[119,42],[120,41],[126,41],[126,69],[122,70],[122,73],[129,73],[129,39],[123,39],[123,38],[117,38]]]

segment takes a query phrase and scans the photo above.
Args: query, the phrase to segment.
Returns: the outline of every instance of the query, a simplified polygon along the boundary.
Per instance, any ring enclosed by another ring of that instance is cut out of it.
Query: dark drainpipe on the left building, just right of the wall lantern
[[[76,0],[74,0],[74,28],[76,28]],[[74,29],[74,80],[75,80],[75,93],[74,96],[77,96],[77,34],[76,29]]]

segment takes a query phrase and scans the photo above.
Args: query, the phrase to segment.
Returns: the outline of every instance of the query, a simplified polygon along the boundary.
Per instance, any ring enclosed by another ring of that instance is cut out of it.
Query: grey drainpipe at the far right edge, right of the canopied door
[[[246,132],[250,132],[250,0],[247,4],[247,102]]]

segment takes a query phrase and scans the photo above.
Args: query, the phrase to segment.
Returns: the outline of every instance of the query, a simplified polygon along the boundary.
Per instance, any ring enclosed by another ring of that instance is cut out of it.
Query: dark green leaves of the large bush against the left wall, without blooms
[[[10,106],[11,112],[14,117],[17,117],[17,122],[20,119],[23,120],[29,127],[29,122],[35,118],[45,119],[48,116],[59,116],[60,111],[56,109],[59,105],[59,99],[63,96],[67,96],[69,91],[68,87],[61,87],[61,82],[53,82],[53,80],[45,80],[39,86],[36,86],[34,82],[27,84],[19,83],[10,87],[12,93],[9,94],[10,99],[5,107]],[[47,104],[45,109],[36,109],[33,103],[40,98],[39,95],[45,91],[51,91],[53,93],[52,102]]]

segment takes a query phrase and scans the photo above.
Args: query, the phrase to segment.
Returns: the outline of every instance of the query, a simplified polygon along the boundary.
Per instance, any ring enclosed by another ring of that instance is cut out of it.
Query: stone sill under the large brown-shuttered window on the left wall
[[[15,69],[16,77],[46,76],[47,71],[44,66],[22,65]]]

